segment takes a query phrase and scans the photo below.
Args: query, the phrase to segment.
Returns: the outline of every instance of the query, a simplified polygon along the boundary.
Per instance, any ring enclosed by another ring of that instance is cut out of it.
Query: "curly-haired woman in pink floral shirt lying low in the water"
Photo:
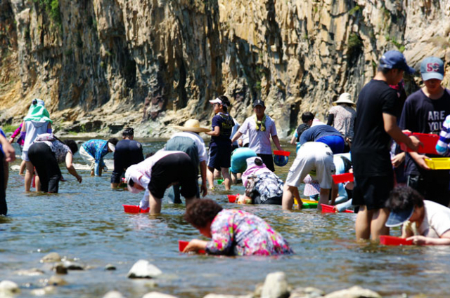
[[[205,250],[212,255],[285,255],[289,243],[264,219],[243,210],[224,210],[216,202],[195,200],[186,208],[186,222],[212,241],[193,239],[183,252]]]

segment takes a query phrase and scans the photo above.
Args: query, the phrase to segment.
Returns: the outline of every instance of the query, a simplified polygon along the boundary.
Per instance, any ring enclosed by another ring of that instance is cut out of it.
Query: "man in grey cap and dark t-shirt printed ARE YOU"
[[[437,57],[427,57],[420,64],[420,74],[425,86],[406,99],[399,126],[413,133],[439,133],[445,117],[450,114],[450,94],[441,86],[444,62]],[[448,206],[449,170],[430,170],[425,163],[425,158],[437,156],[406,153],[407,184],[425,200]]]

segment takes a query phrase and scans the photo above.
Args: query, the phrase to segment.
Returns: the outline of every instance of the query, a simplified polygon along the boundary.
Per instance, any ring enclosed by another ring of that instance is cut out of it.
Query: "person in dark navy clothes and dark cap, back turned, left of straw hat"
[[[127,127],[122,132],[122,139],[115,145],[114,170],[111,174],[111,188],[120,184],[122,174],[130,165],[143,161],[142,144],[134,140],[134,129]]]

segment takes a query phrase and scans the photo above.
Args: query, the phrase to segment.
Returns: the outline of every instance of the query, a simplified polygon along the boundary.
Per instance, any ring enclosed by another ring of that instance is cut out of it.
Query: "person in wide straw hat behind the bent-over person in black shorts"
[[[202,195],[206,196],[206,162],[208,155],[205,147],[205,142],[199,134],[206,133],[211,130],[208,128],[200,127],[200,122],[196,119],[189,119],[184,123],[184,126],[174,126],[174,128],[181,130],[181,133],[175,133],[174,135],[172,135],[170,140],[167,141],[165,149],[167,151],[183,151],[188,154],[195,167],[196,177],[198,177],[198,167],[200,166],[200,176],[202,177],[202,184],[200,189],[198,189],[197,183],[197,197],[200,198],[200,190],[202,191]],[[181,203],[179,185],[174,185],[173,189],[174,203]]]

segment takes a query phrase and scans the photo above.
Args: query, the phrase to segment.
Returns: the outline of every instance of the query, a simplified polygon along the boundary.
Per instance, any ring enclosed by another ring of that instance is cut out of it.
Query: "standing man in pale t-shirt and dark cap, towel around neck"
[[[272,148],[270,144],[270,137],[274,141],[274,144],[278,150],[281,149],[280,140],[276,133],[275,122],[266,114],[266,106],[262,100],[256,100],[253,102],[253,111],[255,116],[250,116],[245,119],[242,126],[240,126],[236,135],[234,135],[231,142],[238,140],[241,135],[248,133],[249,145],[248,147],[256,152],[264,165],[271,170],[275,171],[274,158],[272,157]]]

